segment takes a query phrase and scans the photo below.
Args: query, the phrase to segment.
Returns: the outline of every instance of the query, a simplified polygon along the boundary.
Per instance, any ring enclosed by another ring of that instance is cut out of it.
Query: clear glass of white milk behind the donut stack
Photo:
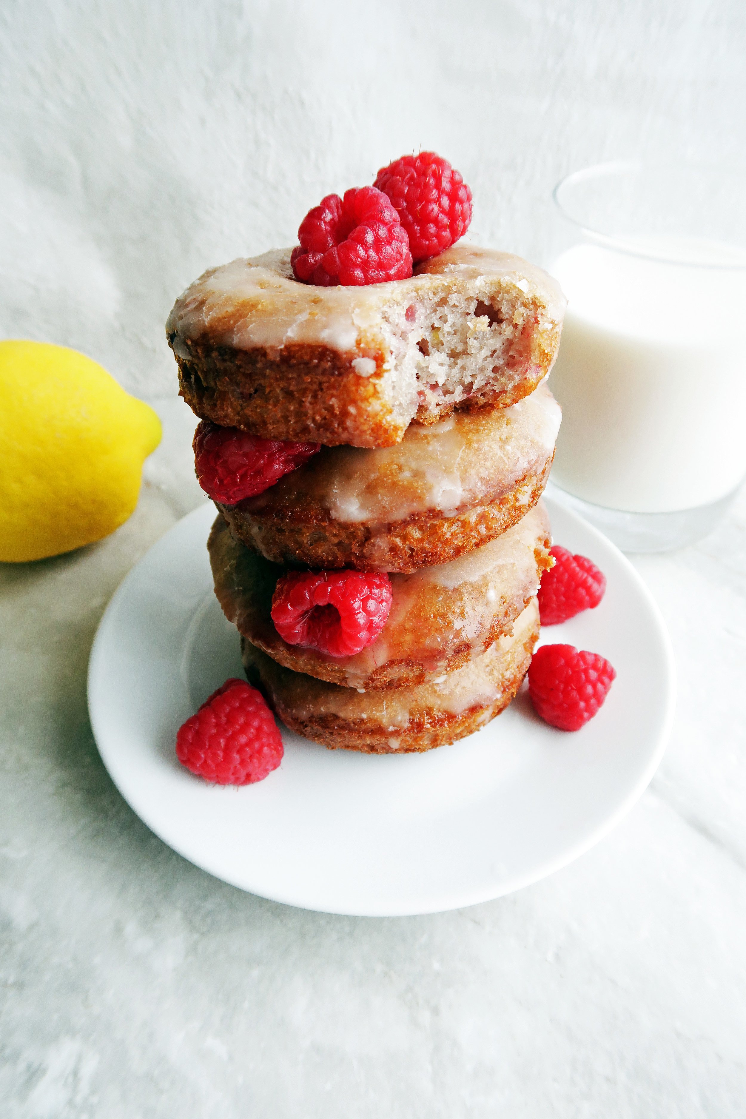
[[[639,162],[554,192],[551,483],[630,552],[706,535],[746,476],[745,198],[743,170]]]

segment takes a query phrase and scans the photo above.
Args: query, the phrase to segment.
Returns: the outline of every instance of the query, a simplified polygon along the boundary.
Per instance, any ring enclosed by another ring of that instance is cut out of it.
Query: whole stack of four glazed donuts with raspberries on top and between
[[[328,746],[463,737],[538,639],[564,299],[453,247],[470,217],[450,164],[405,157],[328,196],[295,250],[205,273],[167,323],[246,675]]]

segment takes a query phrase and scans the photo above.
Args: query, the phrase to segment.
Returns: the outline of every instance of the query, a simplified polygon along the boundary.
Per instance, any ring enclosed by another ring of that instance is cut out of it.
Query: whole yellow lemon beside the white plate
[[[0,342],[0,561],[43,560],[113,533],[160,439],[153,410],[91,358]]]

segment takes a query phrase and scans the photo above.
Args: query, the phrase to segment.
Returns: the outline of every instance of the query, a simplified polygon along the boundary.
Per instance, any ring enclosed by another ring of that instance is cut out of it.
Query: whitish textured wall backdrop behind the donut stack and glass
[[[565,172],[743,153],[745,44],[743,0],[2,0],[0,336],[167,395],[188,282],[421,148],[539,260]]]

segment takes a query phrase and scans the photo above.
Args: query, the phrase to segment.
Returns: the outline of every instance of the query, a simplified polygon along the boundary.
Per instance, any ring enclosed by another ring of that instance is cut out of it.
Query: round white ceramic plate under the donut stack
[[[325,750],[283,727],[278,770],[242,789],[179,765],[181,723],[228,676],[238,636],[213,593],[201,506],[130,572],[101,620],[88,705],[106,769],[134,811],[210,874],[329,913],[429,913],[487,901],[576,858],[640,797],[673,711],[673,660],[650,592],[613,544],[547,501],[555,542],[606,574],[601,605],[542,633],[617,671],[582,731],[541,723],[522,690],[497,720],[425,754]],[[526,685],[523,685],[525,689]]]

